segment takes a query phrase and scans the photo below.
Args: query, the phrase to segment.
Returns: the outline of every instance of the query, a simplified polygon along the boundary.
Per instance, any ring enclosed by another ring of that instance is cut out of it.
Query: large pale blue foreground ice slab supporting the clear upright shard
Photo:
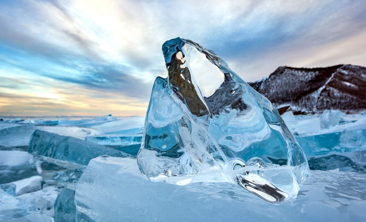
[[[365,184],[364,174],[312,171],[295,199],[271,204],[235,184],[153,182],[136,159],[98,157],[80,178],[75,203],[78,221],[363,221]]]

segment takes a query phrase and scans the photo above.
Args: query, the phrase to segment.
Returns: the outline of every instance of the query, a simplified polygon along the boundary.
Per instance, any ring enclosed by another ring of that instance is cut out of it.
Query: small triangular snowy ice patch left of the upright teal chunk
[[[49,186],[36,192],[20,195],[18,198],[30,203],[38,211],[54,217],[53,205],[60,191],[60,188]]]

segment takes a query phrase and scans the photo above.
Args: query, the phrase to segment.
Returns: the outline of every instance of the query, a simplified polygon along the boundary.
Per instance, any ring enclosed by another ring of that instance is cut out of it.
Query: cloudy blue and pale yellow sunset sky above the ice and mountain
[[[366,66],[366,1],[0,0],[0,115],[143,116],[176,37],[247,82]]]

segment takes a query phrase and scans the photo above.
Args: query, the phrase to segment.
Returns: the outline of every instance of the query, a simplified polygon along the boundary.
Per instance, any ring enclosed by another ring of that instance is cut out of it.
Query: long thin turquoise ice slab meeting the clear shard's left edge
[[[104,146],[129,146],[141,144],[142,134],[110,134],[100,136],[87,136],[85,141],[97,143]]]

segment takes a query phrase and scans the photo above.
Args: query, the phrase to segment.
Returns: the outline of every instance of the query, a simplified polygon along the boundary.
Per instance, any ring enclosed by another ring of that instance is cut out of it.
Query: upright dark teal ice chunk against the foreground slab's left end
[[[68,184],[55,201],[55,222],[75,222],[75,184]]]

